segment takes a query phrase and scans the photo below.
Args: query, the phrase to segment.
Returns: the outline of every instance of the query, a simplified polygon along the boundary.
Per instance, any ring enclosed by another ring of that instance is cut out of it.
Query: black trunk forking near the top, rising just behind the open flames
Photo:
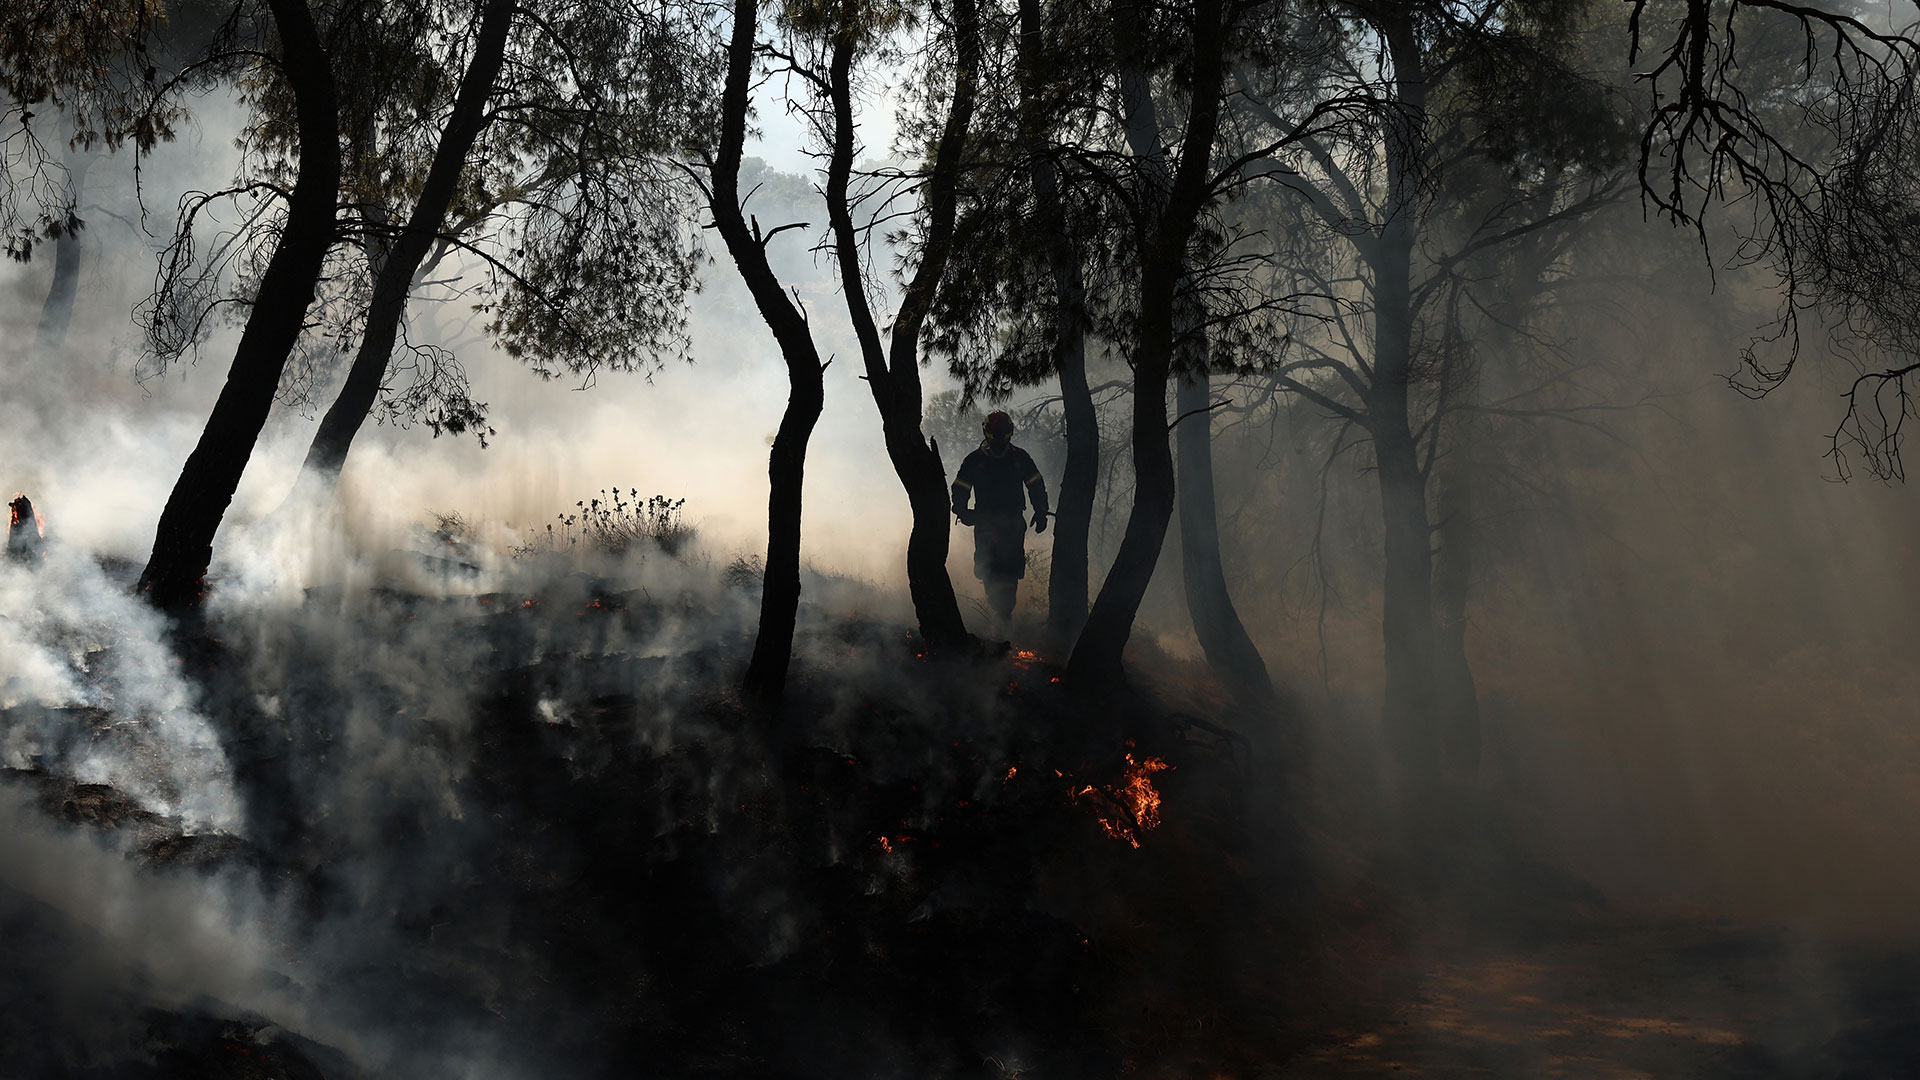
[[[1173,519],[1173,448],[1167,440],[1167,373],[1173,363],[1173,298],[1187,273],[1187,242],[1210,194],[1213,136],[1219,131],[1219,88],[1225,79],[1221,0],[1196,0],[1194,50],[1188,90],[1187,133],[1181,138],[1179,167],[1171,183],[1160,154],[1160,125],[1154,117],[1146,71],[1137,61],[1144,42],[1131,42],[1135,60],[1121,73],[1121,110],[1127,142],[1142,163],[1142,194],[1158,208],[1140,233],[1139,340],[1133,346],[1133,509],[1119,552],[1100,584],[1100,596],[1087,613],[1068,673],[1087,688],[1104,686],[1123,675],[1121,657],[1133,634],[1133,619],[1154,580],[1160,550]],[[1144,33],[1131,21],[1129,37]],[[1158,163],[1158,167],[1156,167]],[[1142,213],[1146,209],[1142,208]]]

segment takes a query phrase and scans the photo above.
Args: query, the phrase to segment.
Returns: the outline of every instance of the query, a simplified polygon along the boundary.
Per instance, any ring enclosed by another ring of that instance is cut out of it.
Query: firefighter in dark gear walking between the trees
[[[1046,532],[1046,480],[1033,457],[1014,446],[1014,417],[987,413],[981,434],[979,450],[954,475],[954,517],[973,527],[973,577],[987,586],[987,605],[1006,621],[1014,617],[1020,578],[1027,577],[1027,498],[1033,530]]]

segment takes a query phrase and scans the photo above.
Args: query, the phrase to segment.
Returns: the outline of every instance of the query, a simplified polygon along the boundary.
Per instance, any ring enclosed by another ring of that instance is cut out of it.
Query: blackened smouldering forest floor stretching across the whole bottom
[[[104,844],[125,903],[269,909],[257,976],[182,994],[75,965],[113,934],[10,896],[10,1063],[1893,1076],[1920,1047],[1910,955],[1824,951],[1818,994],[1795,988],[1805,944],[1620,915],[1498,807],[1396,824],[1365,738],[1248,711],[1194,665],[1142,655],[1085,700],[1027,651],[927,659],[885,619],[808,609],[804,675],[768,717],[735,690],[728,603],[572,575],[173,625],[246,824],[65,774],[144,723],[100,707],[31,717],[69,742],[8,796],[23,828]]]

